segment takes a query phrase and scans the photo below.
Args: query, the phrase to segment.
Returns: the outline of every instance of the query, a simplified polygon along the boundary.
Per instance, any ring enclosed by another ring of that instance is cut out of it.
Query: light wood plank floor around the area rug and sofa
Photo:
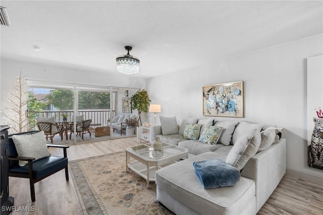
[[[72,145],[68,149],[68,157],[69,160],[81,159],[122,151],[138,144],[141,143],[136,137],[130,137]],[[51,149],[50,153],[63,155],[57,148]],[[30,199],[28,179],[10,177],[9,185],[10,196],[15,198],[16,209],[20,210],[11,213],[13,215],[87,214],[82,211],[73,180],[65,180],[64,170],[35,184],[35,202]],[[22,211],[25,208],[34,211]],[[323,214],[323,185],[285,176],[258,214]]]

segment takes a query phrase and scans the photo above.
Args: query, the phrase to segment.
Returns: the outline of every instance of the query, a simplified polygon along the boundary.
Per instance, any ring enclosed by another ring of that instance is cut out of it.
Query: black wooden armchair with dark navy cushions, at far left
[[[29,136],[29,135],[36,134],[38,132],[41,132],[41,131],[30,131],[30,132],[13,134],[13,135]],[[68,158],[67,158],[67,150],[66,150],[67,148],[69,148],[69,146],[46,144],[47,147],[62,148],[64,157],[52,156],[52,155],[39,158],[39,159],[36,159],[35,157],[22,157],[22,156],[18,156],[16,145],[14,143],[14,140],[12,139],[13,135],[9,135],[8,137],[9,176],[29,179],[31,201],[34,202],[36,200],[34,184],[37,183],[38,181],[54,173],[57,173],[63,169],[65,169],[66,181],[69,180]],[[19,148],[21,149],[21,147]],[[37,148],[37,147],[34,147],[34,148]],[[27,151],[27,150],[24,150],[24,151]],[[28,149],[28,151],[30,150]],[[28,164],[24,166],[20,166],[19,161],[28,162]],[[53,186],[53,185],[50,184],[48,186]]]

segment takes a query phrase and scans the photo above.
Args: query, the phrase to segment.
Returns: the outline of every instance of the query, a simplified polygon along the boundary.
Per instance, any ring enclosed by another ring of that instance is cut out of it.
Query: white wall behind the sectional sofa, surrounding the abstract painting
[[[146,89],[152,103],[161,104],[160,116],[203,118],[202,87],[244,81],[243,120],[283,127],[287,168],[318,177],[307,167],[306,58],[322,54],[322,36],[287,42],[230,59],[150,78]],[[198,58],[198,56],[196,56]]]

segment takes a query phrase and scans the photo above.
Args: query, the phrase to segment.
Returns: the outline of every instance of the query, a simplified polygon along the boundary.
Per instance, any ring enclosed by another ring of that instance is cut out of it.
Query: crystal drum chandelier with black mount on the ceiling
[[[128,50],[127,55],[121,55],[116,58],[117,71],[126,75],[139,73],[139,59],[129,55],[129,51],[132,50],[131,46],[125,46],[125,49]]]

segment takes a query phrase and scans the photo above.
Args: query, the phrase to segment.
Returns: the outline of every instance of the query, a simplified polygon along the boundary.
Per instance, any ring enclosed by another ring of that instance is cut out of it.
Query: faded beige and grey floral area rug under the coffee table
[[[69,162],[75,189],[87,214],[173,214],[156,200],[156,185],[131,170],[126,152]]]

